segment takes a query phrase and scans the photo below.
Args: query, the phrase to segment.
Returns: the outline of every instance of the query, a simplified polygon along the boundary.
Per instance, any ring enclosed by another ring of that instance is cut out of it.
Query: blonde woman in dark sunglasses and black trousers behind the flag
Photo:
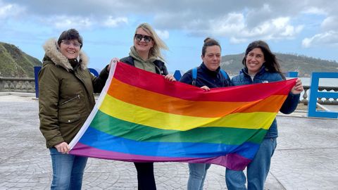
[[[158,37],[155,30],[148,23],[137,26],[134,34],[134,44],[130,48],[129,56],[121,58],[121,62],[136,68],[163,75],[169,81],[175,81],[173,75],[168,74],[161,49],[168,49]],[[139,190],[154,190],[154,163],[134,163],[137,170],[137,185]]]

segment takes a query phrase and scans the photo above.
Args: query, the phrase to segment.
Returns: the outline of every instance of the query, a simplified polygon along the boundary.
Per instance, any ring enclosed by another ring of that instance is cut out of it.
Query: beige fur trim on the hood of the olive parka
[[[58,51],[58,44],[56,42],[56,39],[47,40],[43,47],[45,51],[45,56],[49,57],[51,61],[55,63],[55,65],[59,65],[65,68],[65,70],[67,71],[74,70],[72,65],[70,65],[69,63],[68,58],[63,56],[63,54],[60,51]],[[82,70],[87,69],[89,58],[82,50],[80,51],[79,56],[80,56],[80,68]]]

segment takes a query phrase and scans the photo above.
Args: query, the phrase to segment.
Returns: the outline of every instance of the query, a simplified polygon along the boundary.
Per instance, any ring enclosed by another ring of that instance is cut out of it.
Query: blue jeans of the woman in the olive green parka
[[[56,148],[49,148],[49,151],[53,167],[51,189],[81,189],[88,158],[59,153]]]

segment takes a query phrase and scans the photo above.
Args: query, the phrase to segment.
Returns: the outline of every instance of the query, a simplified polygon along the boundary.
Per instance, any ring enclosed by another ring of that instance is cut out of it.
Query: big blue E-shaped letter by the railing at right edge
[[[308,100],[308,117],[338,118],[338,112],[316,110],[318,98],[338,99],[338,93],[336,92],[318,91],[320,78],[338,78],[338,72],[312,72],[310,95]]]

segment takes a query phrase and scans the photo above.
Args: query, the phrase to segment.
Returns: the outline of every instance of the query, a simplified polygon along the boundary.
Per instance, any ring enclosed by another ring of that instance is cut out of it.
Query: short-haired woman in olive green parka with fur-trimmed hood
[[[110,65],[94,77],[81,51],[82,37],[75,29],[44,44],[46,52],[39,71],[40,131],[51,153],[51,189],[81,189],[86,157],[68,154],[68,144],[94,108],[94,92],[101,92]]]

